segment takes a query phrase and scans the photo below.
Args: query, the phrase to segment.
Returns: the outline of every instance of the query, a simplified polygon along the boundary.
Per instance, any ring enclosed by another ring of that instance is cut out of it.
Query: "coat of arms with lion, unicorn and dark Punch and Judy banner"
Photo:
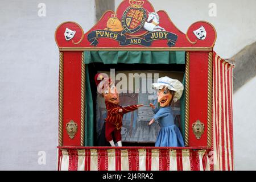
[[[143,7],[144,1],[130,0],[121,17],[112,14],[103,30],[89,32],[87,39],[97,47],[99,38],[114,39],[119,46],[141,45],[150,47],[155,40],[168,40],[168,47],[175,46],[177,35],[160,27],[159,15]]]

